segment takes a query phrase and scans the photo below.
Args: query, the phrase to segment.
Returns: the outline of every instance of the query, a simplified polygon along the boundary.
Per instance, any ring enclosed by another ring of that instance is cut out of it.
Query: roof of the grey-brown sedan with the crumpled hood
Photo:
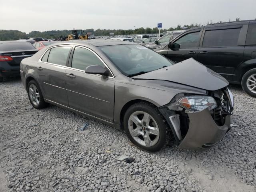
[[[88,45],[93,45],[96,47],[99,46],[109,46],[109,45],[124,45],[124,44],[137,44],[134,42],[129,42],[129,41],[116,41],[116,40],[111,40],[111,39],[92,39],[92,40],[70,40],[70,41],[63,41],[59,43],[54,43],[52,46],[56,45],[65,45],[65,44],[70,44],[70,45],[81,45],[81,46],[88,46]]]

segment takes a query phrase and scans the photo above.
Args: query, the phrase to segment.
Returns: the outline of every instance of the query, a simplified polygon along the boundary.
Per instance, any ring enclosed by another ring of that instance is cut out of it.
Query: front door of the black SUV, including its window
[[[173,48],[168,50],[167,57],[180,62],[188,58],[197,59],[202,29],[190,30],[172,42]]]

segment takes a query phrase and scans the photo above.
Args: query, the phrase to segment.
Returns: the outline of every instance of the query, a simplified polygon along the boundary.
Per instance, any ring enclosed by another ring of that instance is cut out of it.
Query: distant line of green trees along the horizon
[[[236,21],[239,21],[240,18],[236,18]],[[230,20],[229,20],[230,21]],[[218,21],[216,23],[222,23],[222,21]],[[212,21],[208,22],[206,25],[213,24]],[[183,28],[190,29],[193,27],[199,27],[203,26],[200,23],[196,24],[190,24],[190,25],[184,25],[183,27],[178,24],[176,27],[170,27],[168,29],[160,29],[160,33],[166,32],[166,31],[172,31],[172,30],[182,30]],[[154,28],[135,28],[135,29],[86,29],[84,30],[84,33],[90,32],[91,34],[95,36],[109,36],[110,33],[114,33],[114,35],[132,35],[132,34],[157,34],[159,32],[157,27]],[[68,36],[69,34],[72,34],[72,30],[50,30],[50,31],[31,31],[29,34],[26,34],[25,32],[21,32],[18,30],[0,30],[0,41],[3,40],[17,40],[17,39],[23,39],[23,38],[32,38],[32,37],[42,37],[42,38],[58,38],[60,36]]]

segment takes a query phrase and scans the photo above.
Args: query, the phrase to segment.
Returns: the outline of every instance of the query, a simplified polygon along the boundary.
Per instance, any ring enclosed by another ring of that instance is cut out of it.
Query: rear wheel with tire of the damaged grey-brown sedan
[[[43,94],[35,80],[28,82],[27,92],[30,103],[34,108],[42,109],[46,107],[47,103],[44,101]]]

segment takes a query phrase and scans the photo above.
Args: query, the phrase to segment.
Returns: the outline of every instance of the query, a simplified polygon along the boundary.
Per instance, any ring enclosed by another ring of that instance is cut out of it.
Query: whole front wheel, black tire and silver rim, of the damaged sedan
[[[142,150],[156,152],[166,144],[166,120],[158,108],[139,102],[124,114],[124,130],[130,141]]]

